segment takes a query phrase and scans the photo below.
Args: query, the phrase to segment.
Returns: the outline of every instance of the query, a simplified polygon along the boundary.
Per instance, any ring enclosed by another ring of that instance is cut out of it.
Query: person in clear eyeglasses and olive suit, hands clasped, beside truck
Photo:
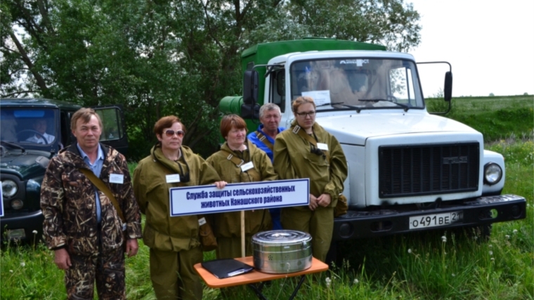
[[[310,204],[282,208],[282,227],[310,233],[313,256],[325,262],[347,162],[337,139],[315,123],[312,98],[295,99],[292,111],[291,128],[276,136],[273,164],[279,179],[310,178]]]

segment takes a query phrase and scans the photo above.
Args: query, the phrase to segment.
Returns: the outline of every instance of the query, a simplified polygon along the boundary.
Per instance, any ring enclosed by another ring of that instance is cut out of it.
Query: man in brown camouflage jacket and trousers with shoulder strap
[[[124,252],[136,255],[141,237],[126,159],[98,142],[102,122],[94,110],[76,112],[71,129],[77,143],[51,159],[41,188],[46,243],[55,251],[54,263],[65,270],[69,299],[93,299],[95,280],[98,298],[126,299]],[[80,169],[100,173],[97,177],[111,190],[126,223]]]

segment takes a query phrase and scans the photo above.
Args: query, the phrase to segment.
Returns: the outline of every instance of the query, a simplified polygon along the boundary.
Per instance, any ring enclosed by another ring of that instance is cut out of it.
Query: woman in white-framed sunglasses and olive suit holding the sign
[[[154,125],[158,142],[133,172],[133,193],[146,215],[143,242],[150,247],[150,279],[157,299],[202,299],[202,281],[195,263],[202,262],[197,216],[173,216],[169,188],[215,184],[217,172],[182,145],[185,128],[175,116]]]

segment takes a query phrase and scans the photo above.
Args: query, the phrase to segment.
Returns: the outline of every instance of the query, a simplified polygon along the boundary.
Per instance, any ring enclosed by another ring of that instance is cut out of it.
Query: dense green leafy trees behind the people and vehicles
[[[403,0],[6,0],[0,9],[1,96],[120,103],[133,159],[169,114],[187,127],[186,145],[213,152],[216,107],[241,93],[249,46],[317,36],[406,51],[421,29]]]

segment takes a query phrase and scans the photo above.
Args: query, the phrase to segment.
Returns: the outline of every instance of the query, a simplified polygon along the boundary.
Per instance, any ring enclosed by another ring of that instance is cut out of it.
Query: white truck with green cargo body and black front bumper
[[[315,122],[341,143],[349,211],[334,219],[333,240],[525,218],[524,197],[501,195],[502,155],[484,150],[480,132],[426,111],[410,54],[305,39],[256,45],[242,62],[243,96],[223,98],[222,112],[254,131],[259,106],[275,103],[289,128],[292,100],[310,96]],[[443,90],[450,105],[452,72]]]

